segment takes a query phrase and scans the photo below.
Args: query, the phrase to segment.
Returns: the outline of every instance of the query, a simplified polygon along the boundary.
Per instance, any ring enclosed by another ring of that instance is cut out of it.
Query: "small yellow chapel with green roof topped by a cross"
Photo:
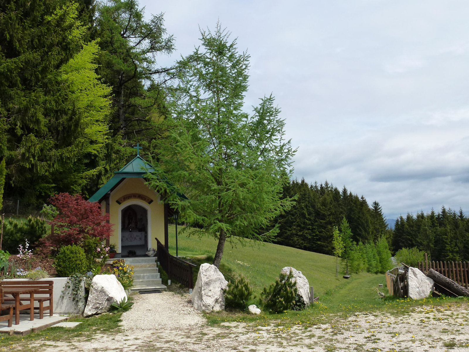
[[[109,214],[113,235],[106,244],[116,246],[116,258],[143,256],[149,248],[157,248],[157,240],[168,248],[168,217],[174,209],[163,202],[161,195],[147,186],[144,175],[153,167],[140,155],[129,161],[106,182],[89,201],[99,202]],[[181,195],[185,198],[185,196]]]

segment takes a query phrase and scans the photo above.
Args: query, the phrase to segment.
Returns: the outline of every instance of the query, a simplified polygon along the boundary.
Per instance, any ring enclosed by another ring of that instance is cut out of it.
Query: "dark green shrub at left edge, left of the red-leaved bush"
[[[25,240],[34,248],[38,240],[46,235],[45,221],[29,217],[26,221],[5,219],[3,224],[2,249],[12,254],[18,253],[18,246],[24,245]]]

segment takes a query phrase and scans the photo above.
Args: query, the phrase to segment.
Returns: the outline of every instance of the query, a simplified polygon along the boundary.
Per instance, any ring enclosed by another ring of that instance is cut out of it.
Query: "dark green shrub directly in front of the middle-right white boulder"
[[[262,290],[260,305],[273,313],[293,309],[296,304],[295,298],[298,297],[298,289],[292,278],[291,271],[288,275],[280,273],[280,277],[275,280],[275,283],[271,283],[268,288],[264,287]]]

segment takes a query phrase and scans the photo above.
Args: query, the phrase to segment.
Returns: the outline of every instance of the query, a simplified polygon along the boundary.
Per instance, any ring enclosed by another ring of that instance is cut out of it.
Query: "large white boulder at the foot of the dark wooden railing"
[[[197,282],[192,291],[192,305],[201,312],[225,309],[227,280],[214,265],[204,263],[200,266]]]

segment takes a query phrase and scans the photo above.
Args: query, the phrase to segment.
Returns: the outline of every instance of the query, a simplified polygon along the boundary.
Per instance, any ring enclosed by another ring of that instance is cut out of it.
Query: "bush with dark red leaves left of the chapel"
[[[112,232],[108,223],[109,214],[101,214],[98,202],[89,202],[79,194],[74,196],[60,193],[52,196],[49,201],[59,214],[53,219],[54,233],[41,240],[42,254],[55,254],[64,245],[82,245],[88,237],[98,237],[104,241]]]

